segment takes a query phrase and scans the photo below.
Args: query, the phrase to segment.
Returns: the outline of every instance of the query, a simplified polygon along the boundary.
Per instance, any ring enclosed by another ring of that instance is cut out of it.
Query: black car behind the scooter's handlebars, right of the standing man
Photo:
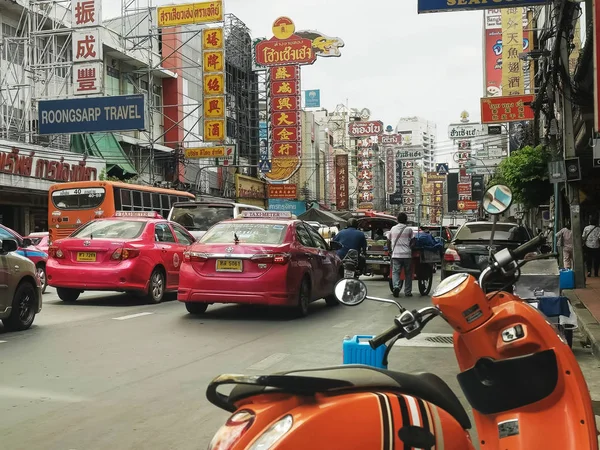
[[[479,277],[489,264],[492,225],[492,222],[467,222],[458,229],[444,253],[442,280],[456,273]],[[491,251],[514,249],[531,238],[530,232],[516,223],[497,223]]]

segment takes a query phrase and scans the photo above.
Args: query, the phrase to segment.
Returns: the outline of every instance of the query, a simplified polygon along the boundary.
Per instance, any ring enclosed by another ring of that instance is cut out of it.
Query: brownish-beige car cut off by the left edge
[[[0,320],[8,330],[26,330],[42,310],[42,283],[35,264],[18,254],[16,239],[0,239]]]

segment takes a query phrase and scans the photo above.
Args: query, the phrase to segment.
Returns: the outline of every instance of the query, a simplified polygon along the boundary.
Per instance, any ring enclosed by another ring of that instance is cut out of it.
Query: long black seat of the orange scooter
[[[277,378],[277,388],[275,389],[273,389],[273,384],[268,382],[271,377]],[[290,377],[289,389],[285,387],[282,380],[286,377]],[[229,401],[235,403],[246,397],[273,391],[294,392],[298,389],[298,383],[292,383],[292,378],[297,381],[299,377],[303,379],[301,384],[305,394],[310,393],[307,392],[307,386],[314,386],[313,394],[344,390],[385,389],[418,397],[446,411],[465,430],[471,428],[471,421],[460,400],[446,382],[437,375],[432,373],[407,374],[362,365],[349,364],[321,369],[294,370],[259,377],[264,383],[236,385],[229,394]],[[313,379],[314,383],[311,383],[310,379]]]

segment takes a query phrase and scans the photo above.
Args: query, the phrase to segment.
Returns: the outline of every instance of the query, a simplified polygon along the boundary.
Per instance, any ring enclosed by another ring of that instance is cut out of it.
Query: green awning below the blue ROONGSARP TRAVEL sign
[[[109,177],[127,179],[138,175],[112,133],[74,134],[71,136],[71,151],[104,159]]]

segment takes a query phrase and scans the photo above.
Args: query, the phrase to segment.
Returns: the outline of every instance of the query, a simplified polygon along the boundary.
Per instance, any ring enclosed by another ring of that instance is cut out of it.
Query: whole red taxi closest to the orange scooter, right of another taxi
[[[214,225],[185,252],[177,299],[191,314],[212,303],[246,303],[289,306],[305,316],[312,301],[337,305],[339,245],[291,213],[247,211]]]

